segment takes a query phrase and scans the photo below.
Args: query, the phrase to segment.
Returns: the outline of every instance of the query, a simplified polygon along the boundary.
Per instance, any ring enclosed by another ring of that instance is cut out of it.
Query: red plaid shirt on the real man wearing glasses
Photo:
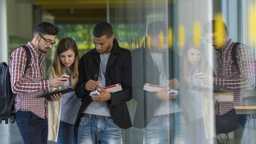
[[[13,93],[17,94],[14,112],[25,109],[45,119],[47,101],[45,98],[39,98],[39,94],[49,89],[49,81],[45,80],[43,69],[45,55],[31,42],[27,43],[27,47],[31,52],[31,60],[25,76],[23,76],[27,62],[25,49],[17,48],[10,57],[11,88]]]

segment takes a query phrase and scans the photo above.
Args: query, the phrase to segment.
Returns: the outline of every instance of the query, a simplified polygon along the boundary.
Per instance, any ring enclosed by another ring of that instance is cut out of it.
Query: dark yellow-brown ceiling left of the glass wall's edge
[[[30,0],[57,21],[105,21],[107,0]]]

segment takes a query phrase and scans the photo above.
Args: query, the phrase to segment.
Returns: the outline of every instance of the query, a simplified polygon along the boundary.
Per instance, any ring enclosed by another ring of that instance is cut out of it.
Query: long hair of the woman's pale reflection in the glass
[[[194,44],[193,38],[190,37],[189,39],[187,39],[186,43],[185,43],[185,48],[182,50],[181,53],[181,59],[182,59],[182,64],[183,64],[183,75],[190,75],[190,69],[189,69],[189,65],[190,62],[187,59],[187,51],[190,50],[190,48],[195,48],[197,50],[200,50],[202,52],[202,57],[201,60],[198,63],[198,71],[199,72],[203,72],[203,73],[208,73],[208,61],[206,59],[206,53],[205,53],[205,46],[202,42],[202,40],[200,41],[200,45],[196,46]]]

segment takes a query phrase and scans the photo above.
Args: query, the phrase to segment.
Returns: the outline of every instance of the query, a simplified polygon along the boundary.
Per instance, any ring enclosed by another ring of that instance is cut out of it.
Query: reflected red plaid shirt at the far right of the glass
[[[224,49],[219,50],[217,55],[217,78],[215,87],[220,91],[233,94],[233,101],[216,102],[217,115],[223,115],[237,105],[248,105],[249,94],[247,89],[254,87],[255,58],[251,48],[240,44],[236,49],[236,57],[240,71],[231,57],[231,49],[234,44],[229,40]]]

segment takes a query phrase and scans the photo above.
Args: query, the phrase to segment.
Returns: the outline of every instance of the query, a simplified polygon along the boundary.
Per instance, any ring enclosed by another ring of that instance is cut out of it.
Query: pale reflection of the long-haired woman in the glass
[[[191,89],[202,86],[197,73],[209,75],[210,67],[206,60],[203,43],[196,47],[193,39],[188,39],[181,55],[183,61],[182,103],[187,113],[187,129],[190,144],[206,144],[214,137],[213,98],[208,91]]]

